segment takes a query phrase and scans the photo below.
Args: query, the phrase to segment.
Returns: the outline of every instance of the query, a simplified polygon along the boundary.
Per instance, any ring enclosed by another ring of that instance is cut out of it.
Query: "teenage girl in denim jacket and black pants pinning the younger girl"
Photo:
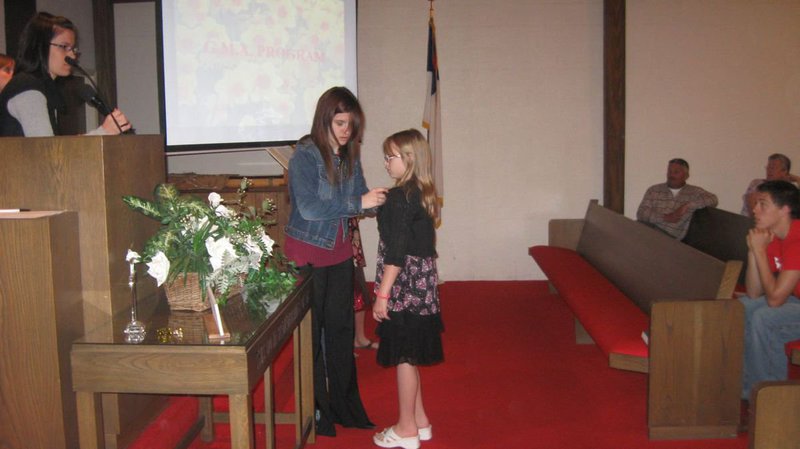
[[[317,102],[311,134],[289,161],[285,253],[311,265],[316,430],[335,436],[334,423],[371,429],[353,357],[353,249],[347,220],[386,201],[386,189],[367,189],[361,170],[364,114],[356,97],[334,87]]]

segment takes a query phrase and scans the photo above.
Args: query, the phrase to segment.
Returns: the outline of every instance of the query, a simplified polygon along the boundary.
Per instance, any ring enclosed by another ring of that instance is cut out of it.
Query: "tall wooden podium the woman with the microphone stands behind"
[[[128,248],[141,249],[158,223],[128,209],[123,195],[152,198],[165,180],[162,136],[70,136],[0,139],[0,208],[78,214],[84,331],[122,332],[111,317],[130,305]],[[142,280],[139,294],[155,293]],[[159,397],[107,395],[103,419],[126,436],[155,412]]]

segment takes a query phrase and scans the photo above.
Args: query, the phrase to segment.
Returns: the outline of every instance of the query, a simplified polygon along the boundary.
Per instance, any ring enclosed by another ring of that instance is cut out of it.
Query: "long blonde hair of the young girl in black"
[[[406,192],[406,198],[410,193],[410,187],[416,186],[422,193],[422,207],[434,220],[439,218],[439,202],[436,195],[436,186],[433,183],[433,160],[431,148],[422,133],[416,129],[407,129],[392,134],[383,141],[383,154],[393,155],[392,145],[400,153],[400,157],[406,164],[406,171],[403,176],[395,182],[395,185],[402,187]]]

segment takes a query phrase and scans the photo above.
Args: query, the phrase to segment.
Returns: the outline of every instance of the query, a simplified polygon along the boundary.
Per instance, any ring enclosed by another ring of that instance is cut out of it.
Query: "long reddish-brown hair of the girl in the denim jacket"
[[[337,172],[333,166],[330,136],[333,132],[333,117],[341,113],[350,114],[350,140],[346,145],[337,148],[339,157],[342,158],[341,171]],[[325,91],[314,112],[314,123],[311,125],[311,134],[308,136],[314,142],[325,162],[325,171],[328,182],[336,184],[342,179],[349,178],[355,170],[356,161],[361,157],[361,136],[363,134],[364,112],[358,99],[346,87],[332,87]]]

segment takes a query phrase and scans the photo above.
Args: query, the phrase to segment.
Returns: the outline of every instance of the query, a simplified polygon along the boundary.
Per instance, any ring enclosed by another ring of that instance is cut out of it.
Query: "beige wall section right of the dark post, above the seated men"
[[[800,1],[628,1],[626,200],[666,161],[739,212],[767,156],[800,170]]]

